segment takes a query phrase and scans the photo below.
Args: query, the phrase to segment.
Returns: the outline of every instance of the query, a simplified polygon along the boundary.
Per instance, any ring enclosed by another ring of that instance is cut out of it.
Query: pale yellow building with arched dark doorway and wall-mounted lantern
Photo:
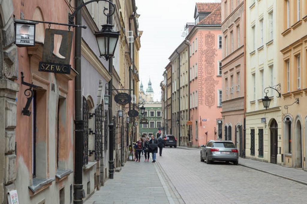
[[[264,109],[264,89],[278,80],[277,18],[279,0],[246,1],[246,157],[282,163],[281,107],[278,92],[268,89],[271,104]]]

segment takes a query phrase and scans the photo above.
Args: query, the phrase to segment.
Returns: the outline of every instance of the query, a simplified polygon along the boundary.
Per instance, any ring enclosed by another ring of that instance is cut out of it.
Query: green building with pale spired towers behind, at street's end
[[[143,89],[143,84],[141,82],[140,92],[139,92],[139,102],[145,101],[145,112],[144,116],[148,124],[139,124],[139,136],[145,135],[155,135],[162,128],[162,103],[161,101],[153,101],[153,88],[151,87],[151,81],[149,80],[146,93]],[[139,123],[142,115],[139,116]]]

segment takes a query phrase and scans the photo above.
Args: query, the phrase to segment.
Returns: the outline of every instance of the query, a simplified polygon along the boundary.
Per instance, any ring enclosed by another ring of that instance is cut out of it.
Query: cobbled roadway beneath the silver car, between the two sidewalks
[[[158,159],[187,204],[307,202],[306,185],[231,163],[208,165],[200,149],[165,148]]]

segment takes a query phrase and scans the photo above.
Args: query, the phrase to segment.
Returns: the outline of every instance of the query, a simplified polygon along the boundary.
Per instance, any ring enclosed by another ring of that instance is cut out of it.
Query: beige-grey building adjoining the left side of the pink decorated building
[[[169,57],[172,64],[172,133],[180,145],[188,143],[189,86],[188,42],[184,40]],[[180,136],[180,137],[179,137]]]

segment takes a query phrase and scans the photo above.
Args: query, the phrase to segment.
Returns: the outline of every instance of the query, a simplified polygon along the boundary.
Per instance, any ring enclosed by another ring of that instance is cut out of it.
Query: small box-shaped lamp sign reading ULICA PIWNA
[[[36,22],[30,20],[15,19],[15,43],[18,47],[35,45]]]

